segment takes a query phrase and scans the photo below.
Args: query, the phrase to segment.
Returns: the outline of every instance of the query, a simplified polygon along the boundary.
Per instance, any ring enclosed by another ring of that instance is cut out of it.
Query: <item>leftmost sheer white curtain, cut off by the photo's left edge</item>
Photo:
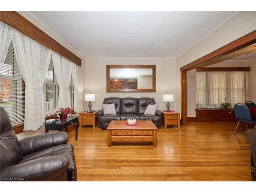
[[[5,62],[8,49],[12,41],[13,29],[0,22],[0,70]]]

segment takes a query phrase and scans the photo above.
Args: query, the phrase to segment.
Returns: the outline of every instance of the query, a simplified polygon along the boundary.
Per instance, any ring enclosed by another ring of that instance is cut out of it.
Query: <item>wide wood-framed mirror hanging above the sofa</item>
[[[156,92],[156,66],[107,65],[106,92]]]

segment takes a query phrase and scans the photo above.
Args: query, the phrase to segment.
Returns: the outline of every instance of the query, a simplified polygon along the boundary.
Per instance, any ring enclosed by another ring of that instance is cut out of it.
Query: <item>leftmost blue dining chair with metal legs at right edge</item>
[[[245,104],[242,104],[242,103],[235,104],[234,114],[236,115],[236,118],[238,120],[238,124],[236,126],[236,129],[234,130],[234,133],[236,133],[241,121],[247,123],[247,129],[248,129],[249,123],[254,124],[254,130],[256,129],[256,118],[251,117],[250,111]]]

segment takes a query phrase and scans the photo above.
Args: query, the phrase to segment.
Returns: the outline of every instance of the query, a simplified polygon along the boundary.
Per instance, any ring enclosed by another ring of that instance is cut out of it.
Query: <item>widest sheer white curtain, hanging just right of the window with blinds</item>
[[[43,86],[52,51],[16,30],[13,47],[25,81],[24,131],[36,131],[45,121]]]

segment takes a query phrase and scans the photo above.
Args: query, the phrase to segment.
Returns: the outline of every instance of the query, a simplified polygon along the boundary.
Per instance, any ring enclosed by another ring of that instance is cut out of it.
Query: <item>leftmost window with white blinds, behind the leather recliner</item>
[[[25,83],[17,66],[12,42],[5,62],[0,63],[0,106],[8,113],[13,125],[24,122]]]

